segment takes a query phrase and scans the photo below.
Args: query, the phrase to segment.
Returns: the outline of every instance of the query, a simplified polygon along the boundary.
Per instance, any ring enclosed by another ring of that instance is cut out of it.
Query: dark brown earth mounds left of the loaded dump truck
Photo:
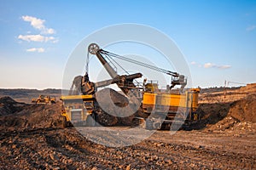
[[[1,130],[35,127],[59,127],[61,104],[27,105],[9,97],[0,99]]]

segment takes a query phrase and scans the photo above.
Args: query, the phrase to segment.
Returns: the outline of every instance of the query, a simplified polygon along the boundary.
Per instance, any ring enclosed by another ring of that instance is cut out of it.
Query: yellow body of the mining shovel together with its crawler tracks
[[[200,117],[196,110],[199,93],[199,88],[191,88],[183,94],[145,92],[143,112],[148,116],[154,112],[154,116],[145,122],[146,128],[168,128],[172,122],[189,126],[189,123],[198,121]],[[161,121],[157,121],[158,118]]]

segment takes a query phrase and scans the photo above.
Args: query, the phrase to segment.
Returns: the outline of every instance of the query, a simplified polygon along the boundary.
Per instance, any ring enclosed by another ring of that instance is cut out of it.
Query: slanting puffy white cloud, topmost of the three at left
[[[22,16],[22,20],[30,22],[30,25],[35,29],[41,31],[42,34],[55,34],[55,30],[44,26],[45,20],[38,19],[33,16]]]

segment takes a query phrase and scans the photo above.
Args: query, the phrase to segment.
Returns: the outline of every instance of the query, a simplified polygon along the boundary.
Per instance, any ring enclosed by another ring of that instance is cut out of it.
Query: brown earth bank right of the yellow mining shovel
[[[232,103],[201,104],[198,110],[201,122],[196,126],[207,131],[255,131],[256,94]]]

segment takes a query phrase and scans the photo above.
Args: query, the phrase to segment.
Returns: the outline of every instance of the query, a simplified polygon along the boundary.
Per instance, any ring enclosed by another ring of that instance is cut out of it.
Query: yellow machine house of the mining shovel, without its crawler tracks
[[[174,117],[182,121],[196,121],[198,108],[198,88],[192,88],[184,94],[144,93],[143,112],[166,114],[165,123],[172,123]]]

